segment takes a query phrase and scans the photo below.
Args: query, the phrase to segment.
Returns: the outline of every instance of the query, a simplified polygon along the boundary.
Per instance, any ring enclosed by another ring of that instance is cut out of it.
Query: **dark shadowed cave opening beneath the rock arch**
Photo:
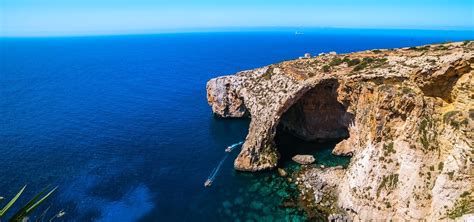
[[[337,80],[325,80],[305,92],[281,116],[275,135],[280,153],[278,165],[291,163],[295,155],[313,155],[325,166],[347,165],[348,157],[335,156],[337,143],[349,137],[353,115],[337,99]]]

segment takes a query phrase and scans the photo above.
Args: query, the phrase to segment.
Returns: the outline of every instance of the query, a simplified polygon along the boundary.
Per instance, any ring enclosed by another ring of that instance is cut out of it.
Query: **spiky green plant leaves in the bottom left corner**
[[[23,219],[27,218],[41,203],[43,203],[46,199],[48,199],[51,194],[58,187],[54,187],[53,189],[49,189],[49,187],[44,188],[41,192],[36,194],[26,205],[20,208],[13,216],[9,219],[12,222],[19,222],[23,221]],[[20,189],[20,191],[0,210],[0,221],[6,215],[8,210],[15,204],[15,202],[20,198],[25,191],[26,185]],[[48,192],[49,191],[49,192]],[[0,202],[3,200],[3,197],[0,197]]]

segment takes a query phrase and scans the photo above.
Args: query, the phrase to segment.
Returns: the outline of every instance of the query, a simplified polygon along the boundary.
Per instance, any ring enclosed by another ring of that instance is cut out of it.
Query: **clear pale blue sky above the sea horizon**
[[[0,0],[0,36],[224,28],[474,30],[474,0]]]

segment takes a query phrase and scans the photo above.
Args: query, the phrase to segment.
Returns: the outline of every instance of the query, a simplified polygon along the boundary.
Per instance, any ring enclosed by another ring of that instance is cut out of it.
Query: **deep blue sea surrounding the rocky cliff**
[[[233,170],[238,150],[213,186],[203,187],[249,124],[215,118],[206,81],[306,52],[474,39],[470,31],[304,33],[1,38],[0,196],[11,198],[28,184],[24,203],[57,185],[40,210],[51,206],[51,217],[64,209],[58,221],[304,218],[301,210],[279,207],[292,189],[274,172]],[[333,145],[314,145],[319,163],[346,161],[331,156]]]

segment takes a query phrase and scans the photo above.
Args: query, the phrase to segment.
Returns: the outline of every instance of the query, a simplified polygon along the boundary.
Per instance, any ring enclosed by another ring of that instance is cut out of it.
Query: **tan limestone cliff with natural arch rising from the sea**
[[[473,49],[466,41],[286,61],[210,80],[208,101],[219,116],[251,117],[238,170],[276,166],[277,128],[344,138],[333,153],[353,156],[347,169],[301,175],[309,187],[316,177],[332,184],[337,213],[472,217]]]

